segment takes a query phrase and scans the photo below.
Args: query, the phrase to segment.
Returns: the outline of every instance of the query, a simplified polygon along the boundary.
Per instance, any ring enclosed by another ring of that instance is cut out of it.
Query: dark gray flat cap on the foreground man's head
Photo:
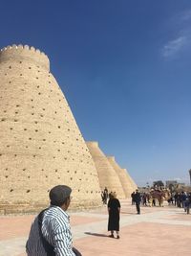
[[[72,189],[66,185],[57,185],[51,189],[49,197],[51,199],[51,204],[60,206],[64,203],[66,198],[71,195]]]

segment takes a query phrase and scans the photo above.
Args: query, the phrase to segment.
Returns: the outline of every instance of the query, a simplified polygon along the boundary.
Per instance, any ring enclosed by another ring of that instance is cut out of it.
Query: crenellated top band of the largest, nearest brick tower
[[[28,60],[50,71],[49,58],[40,50],[29,45],[9,45],[0,50],[0,62]]]

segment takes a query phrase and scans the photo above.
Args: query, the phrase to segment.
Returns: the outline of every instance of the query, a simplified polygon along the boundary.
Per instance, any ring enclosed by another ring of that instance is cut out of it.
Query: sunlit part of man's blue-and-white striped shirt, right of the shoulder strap
[[[75,256],[70,217],[60,207],[53,206],[45,211],[42,234],[53,245],[56,256]]]

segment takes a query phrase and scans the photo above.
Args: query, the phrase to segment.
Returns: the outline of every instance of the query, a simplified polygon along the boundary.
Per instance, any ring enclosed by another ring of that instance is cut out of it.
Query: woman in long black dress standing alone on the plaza
[[[114,238],[114,231],[117,232],[117,239],[119,239],[119,215],[120,215],[120,202],[116,197],[116,193],[110,195],[108,201],[108,231],[111,231],[109,237]]]

